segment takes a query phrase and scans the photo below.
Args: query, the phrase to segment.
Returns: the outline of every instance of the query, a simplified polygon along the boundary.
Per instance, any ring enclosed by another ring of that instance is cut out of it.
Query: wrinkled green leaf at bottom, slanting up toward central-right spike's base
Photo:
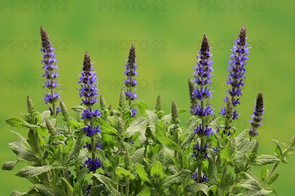
[[[189,170],[180,170],[177,174],[165,177],[160,185],[161,190],[170,188],[172,185],[180,184],[183,179],[191,174]]]

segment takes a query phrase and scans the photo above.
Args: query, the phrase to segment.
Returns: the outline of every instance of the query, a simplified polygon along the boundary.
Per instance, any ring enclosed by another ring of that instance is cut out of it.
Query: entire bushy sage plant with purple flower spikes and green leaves
[[[10,142],[9,147],[18,158],[4,163],[2,170],[12,170],[18,162],[26,162],[29,166],[15,175],[32,183],[27,192],[14,190],[11,196],[277,194],[271,188],[279,176],[275,170],[281,162],[288,163],[286,157],[294,150],[295,136],[285,147],[273,140],[273,155],[259,153],[258,128],[264,114],[262,92],[258,93],[253,115],[249,117],[249,129],[239,131],[233,126],[241,113],[237,105],[249,53],[244,26],[230,55],[229,89],[221,118],[216,118],[209,100],[213,96],[210,91],[213,61],[206,35],[197,65],[193,67],[193,79],[188,80],[192,116],[187,120],[180,119],[179,114],[186,109],[178,108],[176,101],[172,101],[171,111],[165,113],[160,96],[154,110],[137,100],[134,45],[125,65],[125,87],[115,108],[98,95],[95,70],[99,66],[95,65],[94,69],[89,53],[84,54],[82,71],[76,81],[80,85],[77,98],[79,93],[81,105],[71,107],[77,113],[71,117],[65,103],[59,102],[57,60],[43,27],[41,40],[44,87],[49,91],[44,100],[49,109],[38,112],[28,96],[28,113],[21,113],[22,118],[6,120],[11,126],[28,129],[28,135],[25,138],[11,131],[18,139]],[[57,123],[58,119],[62,123]],[[184,126],[180,120],[186,122]],[[270,171],[266,168],[268,164],[274,164]],[[261,168],[259,177],[253,167]]]

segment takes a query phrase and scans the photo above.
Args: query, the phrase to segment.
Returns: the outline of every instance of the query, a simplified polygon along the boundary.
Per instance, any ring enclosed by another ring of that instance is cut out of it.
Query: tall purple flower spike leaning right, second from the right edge
[[[232,99],[233,106],[236,107],[237,104],[240,104],[239,99],[242,96],[241,87],[243,87],[244,79],[246,78],[245,65],[246,60],[248,60],[247,55],[249,54],[249,48],[247,48],[246,42],[246,29],[244,26],[241,27],[239,36],[233,46],[232,54],[230,54],[231,60],[229,61],[228,71],[230,72],[227,76],[227,84],[230,84],[230,89],[227,90],[230,96],[226,96],[224,102],[227,102],[229,98]],[[238,113],[236,109],[234,110],[233,120],[237,119]],[[219,114],[225,115],[225,107],[221,110]]]

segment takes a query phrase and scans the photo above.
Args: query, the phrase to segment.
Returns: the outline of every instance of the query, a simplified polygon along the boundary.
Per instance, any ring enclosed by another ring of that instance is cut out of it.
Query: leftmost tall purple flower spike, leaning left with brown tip
[[[51,114],[54,116],[60,112],[59,106],[57,109],[55,109],[55,102],[57,102],[59,97],[59,92],[55,93],[54,89],[56,87],[59,87],[57,78],[59,77],[59,74],[57,73],[57,70],[59,67],[56,65],[57,59],[55,58],[54,48],[52,47],[51,42],[49,41],[49,37],[47,35],[47,32],[45,29],[41,26],[40,28],[41,33],[41,41],[42,41],[42,49],[43,52],[43,60],[41,63],[44,64],[43,70],[45,70],[45,73],[42,75],[44,78],[46,78],[45,85],[50,92],[45,94],[45,97],[43,98],[45,100],[45,104],[51,103],[53,106],[53,109],[49,106],[49,110],[51,111]]]

